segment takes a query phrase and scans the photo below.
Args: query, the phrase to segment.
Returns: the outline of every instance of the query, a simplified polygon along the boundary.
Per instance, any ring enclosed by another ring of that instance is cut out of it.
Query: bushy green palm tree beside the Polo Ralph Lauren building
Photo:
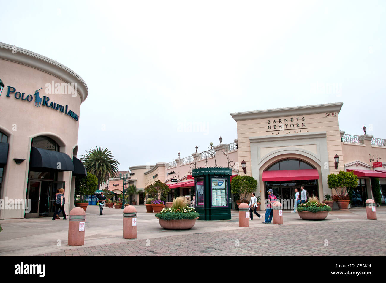
[[[91,149],[86,154],[82,155],[81,159],[86,170],[91,174],[94,174],[98,178],[98,190],[100,184],[106,183],[109,176],[116,176],[118,168],[116,167],[119,162],[113,158],[111,151],[101,149]]]

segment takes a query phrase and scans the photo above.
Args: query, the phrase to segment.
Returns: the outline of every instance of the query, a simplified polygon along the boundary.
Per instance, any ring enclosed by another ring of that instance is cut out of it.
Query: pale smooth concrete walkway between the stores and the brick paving
[[[195,227],[190,230],[174,231],[163,229],[153,213],[146,213],[145,206],[136,205],[135,208],[137,209],[137,239],[139,240],[248,229],[239,227],[237,210],[232,210],[231,220],[197,220]],[[264,216],[265,211],[261,211],[260,214]],[[386,220],[386,207],[377,207],[377,217],[378,222]],[[82,247],[137,241],[123,239],[122,219],[123,210],[104,208],[103,215],[99,215],[98,206],[89,206],[86,210],[85,245]],[[266,227],[267,224],[262,224],[263,221],[263,218],[259,220],[254,215],[254,220],[250,221],[250,227]],[[318,225],[347,221],[365,221],[370,225],[374,220],[367,220],[365,207],[351,208],[347,211],[331,211],[327,219],[322,222],[302,220],[297,213],[283,211],[283,225]],[[0,233],[0,256],[33,256],[74,249],[74,247],[67,246],[68,220],[61,218],[52,222],[50,217],[8,219],[0,220],[0,224],[3,228],[3,232]]]

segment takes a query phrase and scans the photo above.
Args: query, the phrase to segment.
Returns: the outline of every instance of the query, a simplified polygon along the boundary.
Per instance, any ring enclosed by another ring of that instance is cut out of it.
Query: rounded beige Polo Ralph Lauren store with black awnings
[[[86,83],[62,64],[0,43],[0,219],[52,217],[64,189],[73,207]]]

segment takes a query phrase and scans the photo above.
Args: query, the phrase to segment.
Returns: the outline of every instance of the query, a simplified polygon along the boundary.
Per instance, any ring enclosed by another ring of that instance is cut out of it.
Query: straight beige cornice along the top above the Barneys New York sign
[[[340,112],[343,102],[231,113],[235,121]]]

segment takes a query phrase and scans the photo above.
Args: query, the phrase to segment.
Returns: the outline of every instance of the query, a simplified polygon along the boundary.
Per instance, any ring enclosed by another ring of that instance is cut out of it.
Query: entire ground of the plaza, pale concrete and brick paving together
[[[323,221],[302,220],[283,212],[283,225],[250,221],[240,228],[239,212],[231,220],[200,221],[190,230],[165,230],[144,206],[137,209],[137,239],[122,237],[123,211],[86,210],[85,245],[67,245],[68,220],[42,217],[0,223],[0,256],[384,256],[386,207],[378,220],[367,220],[366,208],[333,210]],[[260,212],[264,215],[264,211]],[[251,248],[252,247],[252,248]]]

